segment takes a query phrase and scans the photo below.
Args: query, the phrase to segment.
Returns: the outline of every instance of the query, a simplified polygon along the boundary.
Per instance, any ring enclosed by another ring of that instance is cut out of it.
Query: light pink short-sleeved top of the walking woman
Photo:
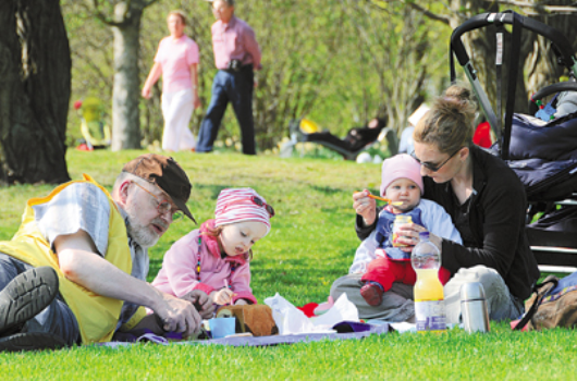
[[[191,65],[198,63],[198,45],[183,35],[179,39],[162,38],[155,62],[162,67],[162,93],[176,93],[193,87]]]

